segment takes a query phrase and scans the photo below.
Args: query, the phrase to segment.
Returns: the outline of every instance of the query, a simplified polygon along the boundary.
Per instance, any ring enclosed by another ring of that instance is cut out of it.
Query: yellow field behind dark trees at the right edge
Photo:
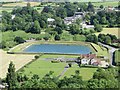
[[[99,34],[112,34],[116,35],[116,37],[120,38],[120,29],[119,28],[103,28],[102,32],[95,33],[97,36]]]

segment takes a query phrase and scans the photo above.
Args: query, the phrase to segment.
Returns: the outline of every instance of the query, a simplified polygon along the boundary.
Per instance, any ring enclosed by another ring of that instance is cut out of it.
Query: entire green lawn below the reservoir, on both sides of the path
[[[58,57],[78,57],[78,56],[71,56],[71,55],[43,55],[38,60],[32,62],[31,64],[26,65],[24,68],[19,70],[23,74],[31,77],[33,74],[39,75],[41,78],[49,73],[49,71],[54,71],[53,76],[59,76],[64,67],[67,65],[65,62],[60,63],[51,63],[50,61],[43,60],[45,58],[58,58]],[[64,76],[71,76],[75,74],[75,70],[80,70],[80,75],[83,77],[83,80],[89,80],[92,78],[93,73],[96,71],[97,68],[79,68],[77,64],[74,64],[72,68],[68,68]]]

